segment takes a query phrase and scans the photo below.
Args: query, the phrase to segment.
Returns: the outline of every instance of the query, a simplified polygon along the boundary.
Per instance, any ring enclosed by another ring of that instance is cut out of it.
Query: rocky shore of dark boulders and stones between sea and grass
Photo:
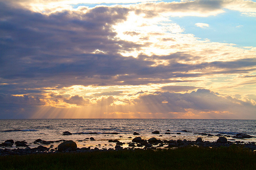
[[[184,131],[185,132],[185,131]],[[158,131],[152,132],[152,134],[159,134]],[[70,132],[63,132],[63,135],[72,135]],[[134,135],[139,135],[134,132]],[[210,135],[210,134],[201,134]],[[218,147],[230,147],[231,145],[239,145],[244,148],[248,148],[252,151],[256,150],[255,142],[243,142],[236,141],[235,139],[252,138],[253,136],[239,133],[232,136],[234,139],[227,140],[226,137],[221,134],[218,135],[216,141],[203,141],[201,137],[195,140],[160,140],[156,137],[149,139],[142,139],[141,137],[129,137],[129,142],[121,142],[119,140],[110,139],[109,146],[111,148],[102,148],[101,144],[96,145],[96,147],[82,147],[78,148],[77,143],[72,140],[57,140],[57,141],[45,141],[41,139],[34,140],[34,144],[38,144],[38,147],[30,148],[30,145],[26,141],[13,141],[12,139],[6,140],[0,144],[0,156],[5,155],[28,155],[28,154],[46,154],[46,153],[80,153],[80,152],[103,152],[103,151],[118,151],[118,150],[157,150],[157,149],[175,149],[180,147],[197,146],[197,147],[207,147],[207,148],[218,148]],[[86,138],[83,140],[95,141],[93,137]],[[230,141],[232,140],[232,141]],[[82,141],[82,140],[77,140]],[[15,149],[13,145],[16,145]],[[50,147],[49,147],[50,145]],[[54,145],[57,146],[54,148]],[[107,144],[104,144],[107,145]],[[103,147],[103,146],[102,146]]]

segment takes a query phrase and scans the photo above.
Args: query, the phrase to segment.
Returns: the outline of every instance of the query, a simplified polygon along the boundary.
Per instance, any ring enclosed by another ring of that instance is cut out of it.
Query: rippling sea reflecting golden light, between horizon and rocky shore
[[[69,131],[72,135],[62,135]],[[159,131],[159,134],[152,134]],[[134,132],[139,135],[134,135]],[[168,132],[169,134],[165,134]],[[0,119],[0,143],[12,139],[26,141],[30,148],[38,147],[36,139],[45,141],[73,140],[78,148],[114,148],[109,140],[129,143],[134,137],[155,137],[160,140],[216,141],[217,134],[230,141],[256,142],[256,137],[234,139],[244,133],[256,136],[256,120],[230,119]],[[208,135],[210,134],[210,135]],[[91,140],[90,138],[94,138]],[[59,142],[51,143],[57,147]],[[124,144],[123,147],[127,147]],[[13,147],[15,148],[15,145]]]

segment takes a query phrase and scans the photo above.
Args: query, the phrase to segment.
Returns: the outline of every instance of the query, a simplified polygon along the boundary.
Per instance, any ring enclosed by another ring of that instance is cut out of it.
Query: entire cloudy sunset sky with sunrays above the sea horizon
[[[256,1],[0,0],[0,118],[256,119],[255,30]]]

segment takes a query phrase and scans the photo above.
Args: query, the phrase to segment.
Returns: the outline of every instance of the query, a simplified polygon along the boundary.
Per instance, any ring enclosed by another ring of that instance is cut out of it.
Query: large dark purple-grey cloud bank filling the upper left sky
[[[186,61],[199,59],[189,52],[123,57],[118,52],[139,49],[141,44],[115,38],[112,26],[125,21],[129,14],[129,9],[120,6],[84,7],[85,13],[80,9],[50,15],[10,8],[4,3],[0,8],[0,83],[4,83],[0,91],[3,93],[36,93],[44,91],[40,90],[42,87],[72,85],[187,82],[175,79],[249,72],[248,67],[256,65],[255,59],[189,64]],[[94,54],[97,50],[99,53]],[[158,60],[169,64],[152,66]],[[205,72],[207,68],[214,69]],[[190,72],[194,70],[197,73]],[[28,86],[30,90],[24,90]]]

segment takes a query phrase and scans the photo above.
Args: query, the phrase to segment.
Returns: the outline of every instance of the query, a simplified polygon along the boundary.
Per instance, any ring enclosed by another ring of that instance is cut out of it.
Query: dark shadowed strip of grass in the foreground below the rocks
[[[0,169],[256,169],[256,153],[232,146],[14,155],[0,157]]]

